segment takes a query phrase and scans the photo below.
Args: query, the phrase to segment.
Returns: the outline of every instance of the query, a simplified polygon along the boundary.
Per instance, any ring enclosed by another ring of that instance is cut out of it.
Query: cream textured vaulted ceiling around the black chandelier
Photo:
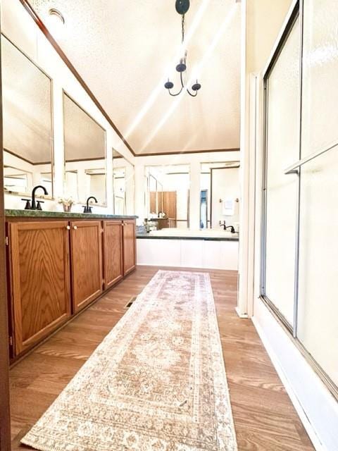
[[[186,15],[188,79],[196,98],[170,97],[178,82],[175,0],[30,0],[137,154],[239,147],[240,5],[192,0]],[[65,18],[61,32],[49,8]],[[194,82],[194,80],[193,80]]]

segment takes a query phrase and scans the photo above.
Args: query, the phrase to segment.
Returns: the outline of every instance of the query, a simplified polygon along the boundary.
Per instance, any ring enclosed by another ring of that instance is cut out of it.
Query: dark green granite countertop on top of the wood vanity
[[[97,219],[136,219],[138,216],[102,214],[102,213],[66,213],[64,211],[41,211],[41,210],[5,210],[8,218],[97,218]]]

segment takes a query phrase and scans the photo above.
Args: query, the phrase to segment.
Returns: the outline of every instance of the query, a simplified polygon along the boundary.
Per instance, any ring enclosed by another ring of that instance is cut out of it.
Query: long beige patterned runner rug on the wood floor
[[[208,273],[158,271],[21,442],[42,451],[236,451]]]

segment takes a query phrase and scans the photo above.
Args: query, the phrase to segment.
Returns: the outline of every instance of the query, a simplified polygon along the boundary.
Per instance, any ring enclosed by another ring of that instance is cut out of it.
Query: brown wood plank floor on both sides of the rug
[[[158,268],[143,266],[11,370],[12,450]],[[194,270],[192,270],[194,271]],[[196,270],[195,270],[196,271]],[[309,451],[308,435],[249,319],[234,311],[235,271],[211,276],[239,451]],[[114,450],[112,450],[114,451]]]

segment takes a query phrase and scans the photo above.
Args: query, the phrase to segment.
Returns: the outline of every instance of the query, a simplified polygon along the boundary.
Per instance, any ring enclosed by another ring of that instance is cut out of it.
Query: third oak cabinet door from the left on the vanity
[[[104,288],[123,278],[122,221],[104,221]]]

